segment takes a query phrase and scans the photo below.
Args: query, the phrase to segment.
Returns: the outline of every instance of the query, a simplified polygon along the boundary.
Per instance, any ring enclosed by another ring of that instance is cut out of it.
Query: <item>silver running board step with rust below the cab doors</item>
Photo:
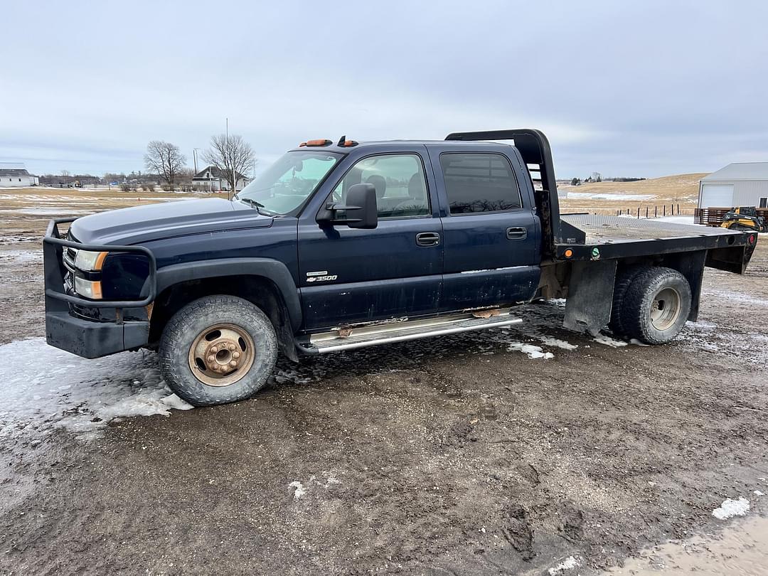
[[[510,310],[510,308],[475,310],[475,312],[429,319],[392,320],[386,323],[339,328],[331,332],[313,334],[303,342],[300,341],[300,346],[307,352],[324,354],[522,323],[521,319],[509,315]],[[487,314],[492,316],[482,317]]]

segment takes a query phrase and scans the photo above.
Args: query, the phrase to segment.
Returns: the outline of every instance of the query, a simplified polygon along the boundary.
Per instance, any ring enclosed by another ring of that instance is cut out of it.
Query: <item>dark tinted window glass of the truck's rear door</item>
[[[452,216],[521,209],[520,187],[503,154],[443,152],[440,167]]]

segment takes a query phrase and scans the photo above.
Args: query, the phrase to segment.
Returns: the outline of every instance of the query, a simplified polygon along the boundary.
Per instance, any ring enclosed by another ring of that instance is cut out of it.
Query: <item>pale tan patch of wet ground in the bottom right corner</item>
[[[768,518],[753,516],[724,528],[719,534],[672,541],[630,558],[615,576],[660,576],[669,574],[768,574]]]

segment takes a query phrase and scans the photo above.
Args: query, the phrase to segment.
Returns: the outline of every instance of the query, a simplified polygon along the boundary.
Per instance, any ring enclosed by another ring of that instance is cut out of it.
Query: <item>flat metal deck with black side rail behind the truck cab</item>
[[[563,214],[561,233],[562,242],[557,244],[556,255],[562,260],[713,250],[744,247],[750,242],[750,233],[725,228],[592,214]]]

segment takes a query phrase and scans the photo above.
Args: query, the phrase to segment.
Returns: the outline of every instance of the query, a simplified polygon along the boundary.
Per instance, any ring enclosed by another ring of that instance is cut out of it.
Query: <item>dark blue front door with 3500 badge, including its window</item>
[[[328,200],[349,187],[376,187],[374,230],[299,223],[299,275],[304,329],[424,316],[439,310],[442,223],[425,170],[425,147],[362,157],[333,184]]]

